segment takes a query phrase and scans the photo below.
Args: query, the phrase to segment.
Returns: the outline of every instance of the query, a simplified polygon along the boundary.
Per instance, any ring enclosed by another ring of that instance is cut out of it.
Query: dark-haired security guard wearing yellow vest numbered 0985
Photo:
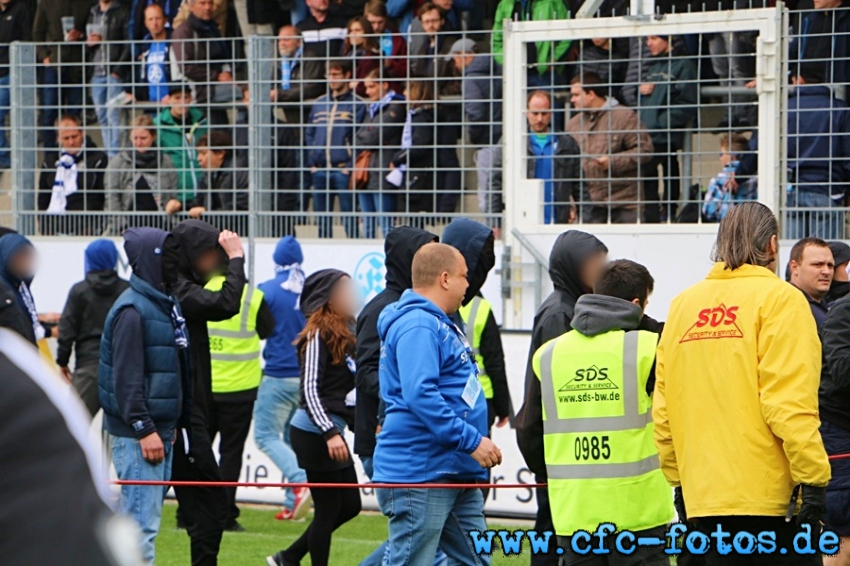
[[[571,538],[577,530],[592,533],[600,523],[613,523],[636,537],[664,539],[673,518],[673,495],[653,438],[658,335],[639,330],[653,285],[642,265],[609,263],[595,294],[576,303],[573,330],[534,355],[552,520],[565,548],[562,566],[613,563],[612,554],[576,553],[590,544]],[[615,540],[608,538],[612,552]],[[659,545],[617,555],[616,564],[669,564],[669,557]]]

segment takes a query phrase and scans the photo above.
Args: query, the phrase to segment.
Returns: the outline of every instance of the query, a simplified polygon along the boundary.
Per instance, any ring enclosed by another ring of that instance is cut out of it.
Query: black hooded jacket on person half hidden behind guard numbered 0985
[[[540,381],[531,367],[534,353],[546,342],[570,330],[578,298],[590,292],[581,282],[581,266],[593,254],[608,252],[596,236],[569,230],[555,240],[549,255],[549,277],[555,290],[534,316],[531,348],[525,373],[525,400],[516,418],[517,445],[529,469],[546,476],[543,458],[543,409],[540,400]]]

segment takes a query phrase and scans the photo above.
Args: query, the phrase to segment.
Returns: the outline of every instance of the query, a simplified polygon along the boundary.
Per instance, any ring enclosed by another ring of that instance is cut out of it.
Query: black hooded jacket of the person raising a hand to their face
[[[234,258],[227,263],[224,284],[219,291],[204,289],[207,281],[195,273],[195,261],[204,252],[219,250],[223,257],[223,250],[218,243],[220,233],[218,228],[203,220],[184,220],[172,231],[180,246],[174,296],[180,302],[186,318],[192,355],[192,424],[207,428],[213,402],[207,323],[227,320],[239,312],[246,283],[244,258]]]

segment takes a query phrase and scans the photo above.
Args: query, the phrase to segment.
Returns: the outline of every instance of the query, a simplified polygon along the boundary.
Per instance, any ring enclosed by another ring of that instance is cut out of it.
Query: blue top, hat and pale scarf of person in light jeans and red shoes
[[[292,289],[297,291],[304,282],[288,285],[290,277],[298,277],[298,275],[292,269],[284,268],[297,264],[300,269],[304,254],[298,240],[292,236],[285,236],[277,243],[273,258],[277,265],[277,275],[274,279],[259,285],[275,320],[274,332],[268,337],[266,347],[263,348],[263,358],[266,360],[263,374],[270,377],[299,379],[301,367],[298,362],[298,352],[292,343],[304,329],[306,321],[304,314],[298,308],[300,292]]]

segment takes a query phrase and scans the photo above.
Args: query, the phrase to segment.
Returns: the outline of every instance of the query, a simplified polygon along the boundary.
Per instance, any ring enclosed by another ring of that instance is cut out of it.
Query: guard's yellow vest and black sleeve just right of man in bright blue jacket
[[[480,374],[478,380],[487,399],[487,424],[503,427],[513,416],[511,392],[505,373],[502,335],[493,316],[493,305],[476,296],[458,311],[463,319],[466,339],[475,352]],[[498,422],[497,422],[498,421]]]

